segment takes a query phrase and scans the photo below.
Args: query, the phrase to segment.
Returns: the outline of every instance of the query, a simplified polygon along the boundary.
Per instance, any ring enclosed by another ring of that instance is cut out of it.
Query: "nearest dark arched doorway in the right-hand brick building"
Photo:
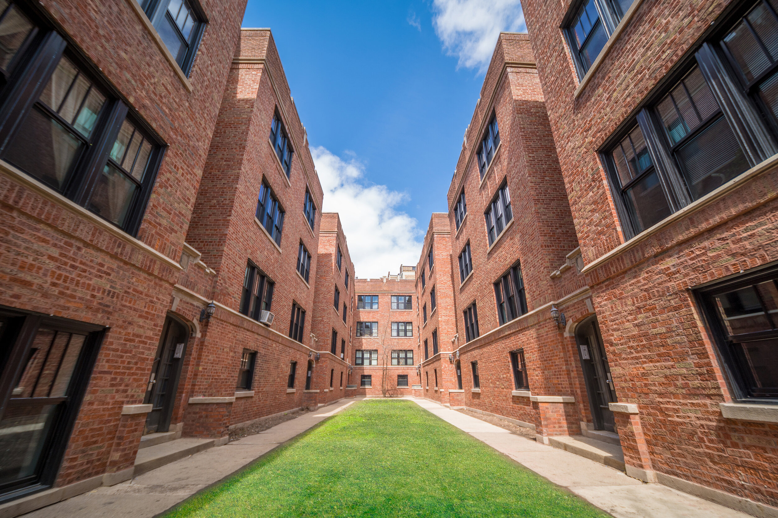
[[[616,402],[611,367],[605,356],[600,326],[597,317],[587,318],[576,328],[576,342],[581,368],[584,370],[589,406],[594,420],[594,429],[615,432],[615,419],[608,403]]]

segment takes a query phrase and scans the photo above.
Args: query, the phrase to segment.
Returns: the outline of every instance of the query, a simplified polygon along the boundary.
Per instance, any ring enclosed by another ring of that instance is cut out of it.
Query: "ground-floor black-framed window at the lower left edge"
[[[104,332],[102,326],[0,308],[5,498],[54,484],[70,435],[60,430],[72,429]]]

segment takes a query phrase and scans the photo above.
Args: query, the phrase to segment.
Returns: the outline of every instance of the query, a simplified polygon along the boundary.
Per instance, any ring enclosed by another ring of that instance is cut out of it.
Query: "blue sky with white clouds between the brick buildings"
[[[415,264],[519,0],[249,0],[243,26],[272,29],[356,275]]]

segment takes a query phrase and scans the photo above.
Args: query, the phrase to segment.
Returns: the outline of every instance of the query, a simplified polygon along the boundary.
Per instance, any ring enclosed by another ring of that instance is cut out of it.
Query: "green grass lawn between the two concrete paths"
[[[180,504],[184,516],[608,516],[409,401],[368,400]]]

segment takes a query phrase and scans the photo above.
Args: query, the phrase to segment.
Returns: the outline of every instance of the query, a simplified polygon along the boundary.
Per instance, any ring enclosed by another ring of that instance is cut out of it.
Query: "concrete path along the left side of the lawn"
[[[149,518],[234,473],[354,403],[341,400],[264,432],[147,471],[132,480],[37,509],[23,518]]]

